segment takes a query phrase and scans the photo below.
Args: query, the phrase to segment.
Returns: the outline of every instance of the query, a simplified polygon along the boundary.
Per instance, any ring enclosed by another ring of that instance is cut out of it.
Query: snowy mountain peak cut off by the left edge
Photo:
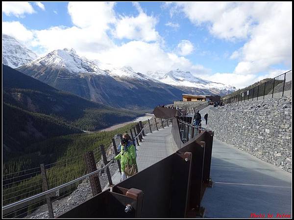
[[[28,64],[37,55],[24,44],[6,34],[2,35],[2,63],[12,68]]]

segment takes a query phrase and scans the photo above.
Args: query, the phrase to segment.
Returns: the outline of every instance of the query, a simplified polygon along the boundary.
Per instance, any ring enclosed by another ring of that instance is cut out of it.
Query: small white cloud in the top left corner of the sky
[[[25,13],[32,14],[35,11],[31,4],[25,1],[2,1],[2,12],[7,16],[23,17]]]

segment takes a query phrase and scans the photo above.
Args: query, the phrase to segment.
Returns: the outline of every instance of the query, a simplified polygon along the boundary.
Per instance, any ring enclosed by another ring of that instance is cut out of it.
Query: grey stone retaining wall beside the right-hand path
[[[213,108],[207,127],[221,141],[292,173],[292,96]]]

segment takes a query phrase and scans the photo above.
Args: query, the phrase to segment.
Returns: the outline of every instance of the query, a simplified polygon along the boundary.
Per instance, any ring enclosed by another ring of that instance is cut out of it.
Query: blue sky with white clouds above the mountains
[[[178,67],[236,87],[292,68],[292,21],[278,13],[292,14],[287,2],[8,4],[2,2],[2,32],[39,54],[73,47],[88,58],[135,71]],[[268,25],[276,31],[263,34]],[[291,31],[291,39],[282,35],[279,44],[275,38],[282,31]]]

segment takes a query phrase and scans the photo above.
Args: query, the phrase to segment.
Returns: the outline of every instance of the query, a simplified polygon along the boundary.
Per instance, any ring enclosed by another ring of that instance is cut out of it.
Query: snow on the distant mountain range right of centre
[[[163,76],[159,76],[159,74],[153,74],[153,76],[157,76],[157,79],[160,82],[168,84],[168,85],[172,85],[172,86],[206,88],[206,89],[217,88],[221,90],[235,89],[232,86],[227,86],[222,83],[215,83],[208,80],[203,80],[199,77],[194,76],[189,71],[182,71],[179,69],[169,71]]]

